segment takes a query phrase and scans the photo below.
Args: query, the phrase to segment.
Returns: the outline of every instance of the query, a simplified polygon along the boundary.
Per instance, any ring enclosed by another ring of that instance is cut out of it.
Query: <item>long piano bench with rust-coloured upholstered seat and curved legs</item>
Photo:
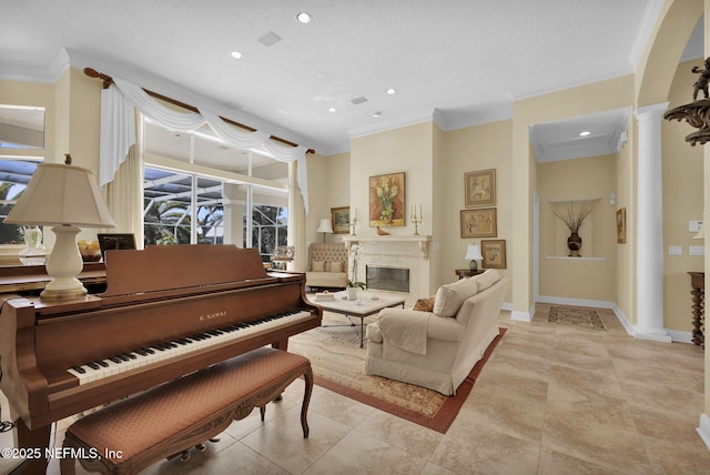
[[[224,431],[234,420],[266,404],[303,376],[304,438],[313,391],[311,362],[262,347],[192,373],[90,414],[68,429],[62,454],[79,456],[87,471],[133,474]],[[62,474],[74,474],[75,458],[62,458]]]

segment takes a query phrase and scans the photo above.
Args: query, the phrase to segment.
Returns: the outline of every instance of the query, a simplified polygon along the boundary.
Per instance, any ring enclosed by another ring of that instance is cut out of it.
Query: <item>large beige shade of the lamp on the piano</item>
[[[91,170],[41,163],[6,223],[114,228]]]

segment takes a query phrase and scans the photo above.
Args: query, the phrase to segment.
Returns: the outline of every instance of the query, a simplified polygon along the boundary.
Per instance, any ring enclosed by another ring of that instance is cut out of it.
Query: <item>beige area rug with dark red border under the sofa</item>
[[[323,325],[288,338],[288,351],[311,360],[315,384],[440,433],[446,433],[456,418],[505,333],[500,329],[500,335],[456,390],[456,395],[447,397],[436,391],[365,374],[367,347],[359,347],[359,321],[357,326],[349,326],[344,316],[325,312]]]

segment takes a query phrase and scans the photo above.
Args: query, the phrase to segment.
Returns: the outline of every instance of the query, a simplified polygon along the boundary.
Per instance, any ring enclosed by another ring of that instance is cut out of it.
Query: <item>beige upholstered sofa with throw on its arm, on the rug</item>
[[[385,309],[367,325],[367,374],[453,395],[499,334],[509,277],[487,270],[442,285],[430,312]]]

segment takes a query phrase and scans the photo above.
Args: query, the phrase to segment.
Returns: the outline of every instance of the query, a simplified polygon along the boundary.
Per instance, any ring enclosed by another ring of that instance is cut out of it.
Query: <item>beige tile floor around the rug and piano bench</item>
[[[446,434],[315,386],[304,439],[297,381],[265,423],[255,411],[190,461],[145,473],[709,474],[702,350],[632,338],[611,311],[595,331],[547,323],[547,310],[531,323],[501,313],[509,330]]]

